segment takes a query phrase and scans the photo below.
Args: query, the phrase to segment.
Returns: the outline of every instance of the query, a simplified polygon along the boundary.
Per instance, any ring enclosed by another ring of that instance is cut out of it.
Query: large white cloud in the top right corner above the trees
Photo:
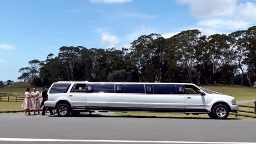
[[[202,28],[234,31],[245,29],[256,22],[256,3],[236,0],[176,0],[187,4],[193,16],[199,18]]]

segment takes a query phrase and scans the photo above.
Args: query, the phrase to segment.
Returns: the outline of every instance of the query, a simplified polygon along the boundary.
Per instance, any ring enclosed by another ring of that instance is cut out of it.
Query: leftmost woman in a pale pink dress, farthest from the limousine
[[[34,109],[34,103],[33,103],[33,100],[32,100],[32,96],[30,94],[30,88],[26,89],[24,97],[25,98],[24,98],[23,104],[21,105],[21,107],[23,109],[25,109],[24,115],[27,115],[27,112],[28,112],[28,115],[31,115],[30,110]]]

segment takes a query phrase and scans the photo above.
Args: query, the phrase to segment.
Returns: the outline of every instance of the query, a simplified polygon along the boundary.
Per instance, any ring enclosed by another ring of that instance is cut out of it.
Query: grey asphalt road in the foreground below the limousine
[[[19,139],[13,141],[5,138]],[[121,142],[256,143],[256,119],[146,118],[85,114],[79,117],[22,116],[21,113],[0,115],[1,144]]]

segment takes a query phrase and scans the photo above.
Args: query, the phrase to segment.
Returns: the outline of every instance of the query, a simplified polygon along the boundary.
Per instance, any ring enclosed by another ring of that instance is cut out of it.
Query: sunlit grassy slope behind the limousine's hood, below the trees
[[[241,86],[202,86],[219,93],[235,97],[236,100],[251,100],[256,99],[255,87],[241,87]]]

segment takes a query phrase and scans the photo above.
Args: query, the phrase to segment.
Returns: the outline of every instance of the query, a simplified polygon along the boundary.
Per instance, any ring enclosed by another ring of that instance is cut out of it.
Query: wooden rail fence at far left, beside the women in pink
[[[24,93],[0,93],[0,101],[23,102]]]

